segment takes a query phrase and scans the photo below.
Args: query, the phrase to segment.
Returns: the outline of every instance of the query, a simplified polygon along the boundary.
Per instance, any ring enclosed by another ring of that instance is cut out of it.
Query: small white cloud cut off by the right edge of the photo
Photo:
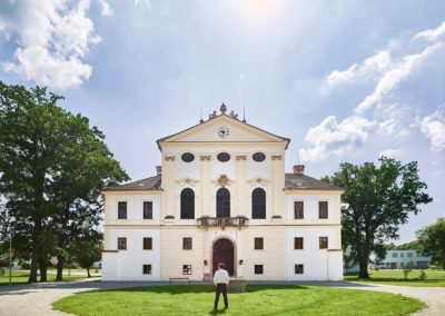
[[[431,141],[432,151],[445,149],[445,118],[439,110],[424,117],[418,124],[422,132]]]

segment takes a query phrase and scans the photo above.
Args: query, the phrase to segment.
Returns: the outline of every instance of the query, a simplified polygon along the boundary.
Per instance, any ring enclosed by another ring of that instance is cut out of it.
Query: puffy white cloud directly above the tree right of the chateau
[[[329,116],[307,132],[306,141],[313,147],[299,151],[301,159],[323,160],[330,155],[343,156],[355,150],[367,141],[367,129],[374,125],[374,121],[358,116],[348,117],[338,124],[335,116]]]

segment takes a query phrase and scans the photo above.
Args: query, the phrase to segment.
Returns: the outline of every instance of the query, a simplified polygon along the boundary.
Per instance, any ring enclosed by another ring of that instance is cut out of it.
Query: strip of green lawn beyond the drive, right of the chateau
[[[353,282],[365,282],[365,283],[382,283],[390,285],[404,285],[404,286],[432,286],[432,287],[445,287],[445,270],[425,270],[426,280],[421,280],[421,270],[412,270],[408,274],[408,279],[405,280],[405,276],[402,270],[370,270],[369,279],[360,279],[357,275],[345,276],[345,280]]]

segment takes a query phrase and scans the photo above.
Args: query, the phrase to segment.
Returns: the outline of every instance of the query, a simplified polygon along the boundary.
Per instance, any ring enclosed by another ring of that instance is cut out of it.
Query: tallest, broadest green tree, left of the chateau
[[[100,190],[128,179],[103,135],[89,127],[88,119],[60,108],[60,99],[46,88],[26,89],[0,81],[0,192],[9,219],[4,214],[1,217],[11,221],[14,238],[21,240],[18,248],[29,251],[30,283],[37,282],[38,264],[44,275],[48,257],[57,253],[63,235],[59,228],[67,223],[82,227],[86,220],[93,225],[91,218],[100,207],[91,204],[97,205]],[[80,167],[72,168],[76,164]],[[80,171],[82,168],[87,170]],[[80,182],[85,184],[81,189]],[[69,197],[68,187],[72,191]],[[79,211],[80,218],[67,217],[67,205],[71,213],[76,206],[87,210]],[[65,233],[65,237],[70,234],[69,229]]]

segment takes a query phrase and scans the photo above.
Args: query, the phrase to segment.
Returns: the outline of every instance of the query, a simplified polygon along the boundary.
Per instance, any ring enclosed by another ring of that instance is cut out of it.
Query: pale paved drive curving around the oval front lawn
[[[67,315],[61,312],[52,310],[52,303],[71,294],[112,289],[136,286],[154,286],[167,285],[168,283],[141,283],[141,282],[106,282],[99,280],[79,280],[69,283],[46,283],[33,285],[0,286],[0,316],[43,316],[43,315]],[[277,283],[261,283],[277,284]],[[289,284],[289,283],[278,283]],[[293,283],[294,284],[294,283]],[[301,283],[296,283],[301,284]],[[308,285],[308,283],[304,283]],[[379,290],[402,294],[415,297],[424,303],[427,307],[413,315],[444,315],[445,310],[445,287],[407,287],[377,284],[358,284],[358,283],[310,283],[309,285],[343,287],[364,290]]]

